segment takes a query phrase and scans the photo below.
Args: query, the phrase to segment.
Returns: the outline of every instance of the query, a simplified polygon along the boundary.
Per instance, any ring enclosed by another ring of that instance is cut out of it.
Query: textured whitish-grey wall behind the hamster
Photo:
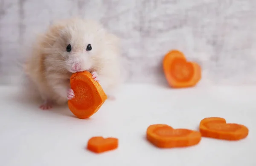
[[[211,83],[256,83],[256,0],[0,0],[0,83],[18,83],[20,46],[53,20],[101,21],[122,38],[127,81],[162,82],[180,49]]]

